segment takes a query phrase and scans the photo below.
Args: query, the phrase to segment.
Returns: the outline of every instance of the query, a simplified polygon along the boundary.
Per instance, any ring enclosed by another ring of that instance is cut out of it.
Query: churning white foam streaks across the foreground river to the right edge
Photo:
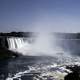
[[[55,56],[58,58],[58,56]],[[62,61],[62,60],[63,61]],[[64,80],[64,76],[66,76],[68,73],[71,73],[69,69],[66,69],[66,66],[69,65],[78,65],[80,66],[80,58],[79,57],[71,57],[71,56],[64,56],[62,58],[58,58],[57,61],[62,61],[59,63],[51,62],[49,64],[44,63],[36,63],[33,65],[28,65],[28,69],[24,71],[19,71],[16,74],[12,75],[9,74],[9,76],[6,78],[6,80],[22,80],[22,77],[24,76],[31,76],[31,80]],[[46,78],[46,79],[45,79]]]

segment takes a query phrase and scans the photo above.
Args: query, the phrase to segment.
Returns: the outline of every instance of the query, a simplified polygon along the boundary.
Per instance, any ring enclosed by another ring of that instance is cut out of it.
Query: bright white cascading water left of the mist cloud
[[[27,55],[30,51],[30,44],[26,38],[12,37],[8,38],[9,50]]]

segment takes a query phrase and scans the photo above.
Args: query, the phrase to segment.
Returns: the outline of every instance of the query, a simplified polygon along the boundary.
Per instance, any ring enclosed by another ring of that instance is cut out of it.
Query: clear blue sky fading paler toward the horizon
[[[80,0],[0,0],[0,32],[80,32]]]

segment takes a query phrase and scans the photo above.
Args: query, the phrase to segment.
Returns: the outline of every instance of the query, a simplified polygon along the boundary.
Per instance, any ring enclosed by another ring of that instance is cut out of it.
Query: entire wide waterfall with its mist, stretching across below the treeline
[[[38,33],[33,37],[1,37],[0,47],[23,55],[79,54],[80,39],[70,34]]]

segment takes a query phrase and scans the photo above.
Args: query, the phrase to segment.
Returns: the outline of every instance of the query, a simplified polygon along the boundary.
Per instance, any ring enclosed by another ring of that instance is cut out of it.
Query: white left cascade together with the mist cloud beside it
[[[61,53],[63,50],[56,46],[55,37],[52,39],[51,35],[47,33],[39,33],[34,43],[29,43],[27,39],[19,37],[8,38],[9,49],[19,52],[23,55],[54,55]]]

